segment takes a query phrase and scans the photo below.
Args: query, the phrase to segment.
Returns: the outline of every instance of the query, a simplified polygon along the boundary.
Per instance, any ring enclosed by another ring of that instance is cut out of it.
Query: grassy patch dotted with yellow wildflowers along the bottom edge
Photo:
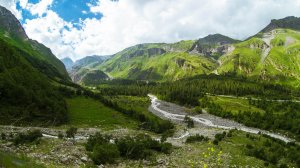
[[[264,161],[255,157],[247,156],[244,153],[244,145],[253,143],[246,134],[240,131],[233,133],[232,137],[226,137],[219,142],[219,145],[213,145],[209,142],[197,142],[184,144],[184,146],[175,147],[170,155],[158,154],[157,159],[165,160],[167,167],[265,167]],[[213,152],[212,152],[213,148]],[[218,163],[218,153],[220,153],[220,165]],[[124,161],[125,165],[130,167],[143,167],[132,161]],[[155,166],[155,161],[153,166]],[[160,165],[158,165],[160,166]]]

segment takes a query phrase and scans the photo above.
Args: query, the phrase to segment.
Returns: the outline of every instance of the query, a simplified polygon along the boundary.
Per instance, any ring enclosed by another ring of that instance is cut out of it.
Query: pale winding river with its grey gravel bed
[[[151,106],[149,107],[149,111],[161,118],[169,119],[173,122],[178,123],[178,122],[182,122],[184,120],[184,117],[187,115],[187,113],[184,110],[184,107],[175,105],[173,103],[168,103],[168,102],[158,100],[157,97],[151,94],[149,94],[148,96],[151,99]],[[237,130],[254,133],[254,134],[263,133],[273,138],[280,139],[284,142],[294,141],[280,134],[271,133],[269,131],[265,131],[261,129],[246,127],[243,124],[237,123],[235,121],[216,117],[214,115],[207,114],[207,113],[199,114],[195,116],[189,116],[189,117],[196,124],[201,124],[207,127],[213,127],[213,128],[219,128],[225,130],[237,129]],[[188,135],[189,134],[185,133],[183,137],[186,137]]]

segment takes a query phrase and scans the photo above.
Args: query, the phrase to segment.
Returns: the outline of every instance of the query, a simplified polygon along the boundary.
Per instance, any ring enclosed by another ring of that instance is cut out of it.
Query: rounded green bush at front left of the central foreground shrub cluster
[[[95,164],[114,163],[117,158],[120,157],[119,150],[115,144],[104,143],[102,145],[97,144],[91,158]]]

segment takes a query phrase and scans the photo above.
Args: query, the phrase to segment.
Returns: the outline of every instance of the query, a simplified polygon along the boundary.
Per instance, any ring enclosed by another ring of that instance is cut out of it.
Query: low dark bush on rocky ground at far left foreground
[[[26,134],[19,133],[14,139],[13,142],[15,145],[31,143],[37,141],[39,138],[43,137],[43,134],[40,130],[29,131]]]

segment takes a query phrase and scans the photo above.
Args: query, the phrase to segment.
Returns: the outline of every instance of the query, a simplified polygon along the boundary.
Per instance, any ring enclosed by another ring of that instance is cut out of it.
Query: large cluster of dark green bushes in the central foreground
[[[115,139],[115,144],[110,143],[110,139],[110,136],[100,133],[89,137],[85,147],[96,164],[113,163],[119,156],[134,160],[147,159],[154,152],[169,154],[172,150],[172,144],[161,143],[145,134]]]

